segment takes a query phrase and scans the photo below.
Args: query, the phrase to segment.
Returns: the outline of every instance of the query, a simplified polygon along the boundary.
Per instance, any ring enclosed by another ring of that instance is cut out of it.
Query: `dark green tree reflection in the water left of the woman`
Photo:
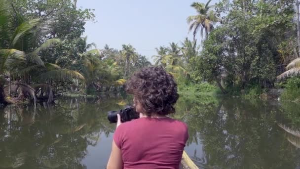
[[[87,146],[114,131],[106,112],[116,99],[60,99],[56,105],[9,106],[0,112],[0,168],[83,169]]]

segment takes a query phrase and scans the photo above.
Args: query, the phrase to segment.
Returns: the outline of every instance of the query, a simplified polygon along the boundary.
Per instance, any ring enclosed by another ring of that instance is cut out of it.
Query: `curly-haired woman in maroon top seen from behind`
[[[121,124],[118,115],[107,169],[179,169],[188,127],[167,117],[179,97],[172,75],[162,67],[142,69],[126,91],[134,95],[140,119]]]

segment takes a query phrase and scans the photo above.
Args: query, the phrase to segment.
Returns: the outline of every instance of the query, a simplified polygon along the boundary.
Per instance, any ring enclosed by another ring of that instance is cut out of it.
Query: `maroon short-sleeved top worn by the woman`
[[[113,140],[124,169],[179,169],[188,127],[171,118],[140,118],[117,127]]]

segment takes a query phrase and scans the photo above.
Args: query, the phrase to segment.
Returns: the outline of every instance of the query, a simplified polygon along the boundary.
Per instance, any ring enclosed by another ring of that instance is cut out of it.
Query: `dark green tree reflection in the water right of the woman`
[[[222,169],[300,166],[300,151],[288,142],[277,125],[290,121],[284,118],[285,111],[277,102],[221,99],[218,104],[212,103],[190,106],[191,115],[186,119],[189,143],[198,139],[203,146],[202,157],[193,157],[199,166]]]

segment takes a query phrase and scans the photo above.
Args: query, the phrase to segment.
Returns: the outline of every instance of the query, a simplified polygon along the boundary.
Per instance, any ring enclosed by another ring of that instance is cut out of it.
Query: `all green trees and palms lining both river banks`
[[[193,2],[197,14],[187,16],[187,31],[194,39],[155,48],[154,65],[176,78],[181,93],[259,97],[299,75],[298,6],[294,0]],[[93,10],[74,0],[0,0],[0,103],[119,92],[133,72],[151,65],[131,44],[121,50],[88,44],[82,34],[93,20]],[[282,99],[297,99],[298,92],[287,94],[295,87],[284,86]]]

